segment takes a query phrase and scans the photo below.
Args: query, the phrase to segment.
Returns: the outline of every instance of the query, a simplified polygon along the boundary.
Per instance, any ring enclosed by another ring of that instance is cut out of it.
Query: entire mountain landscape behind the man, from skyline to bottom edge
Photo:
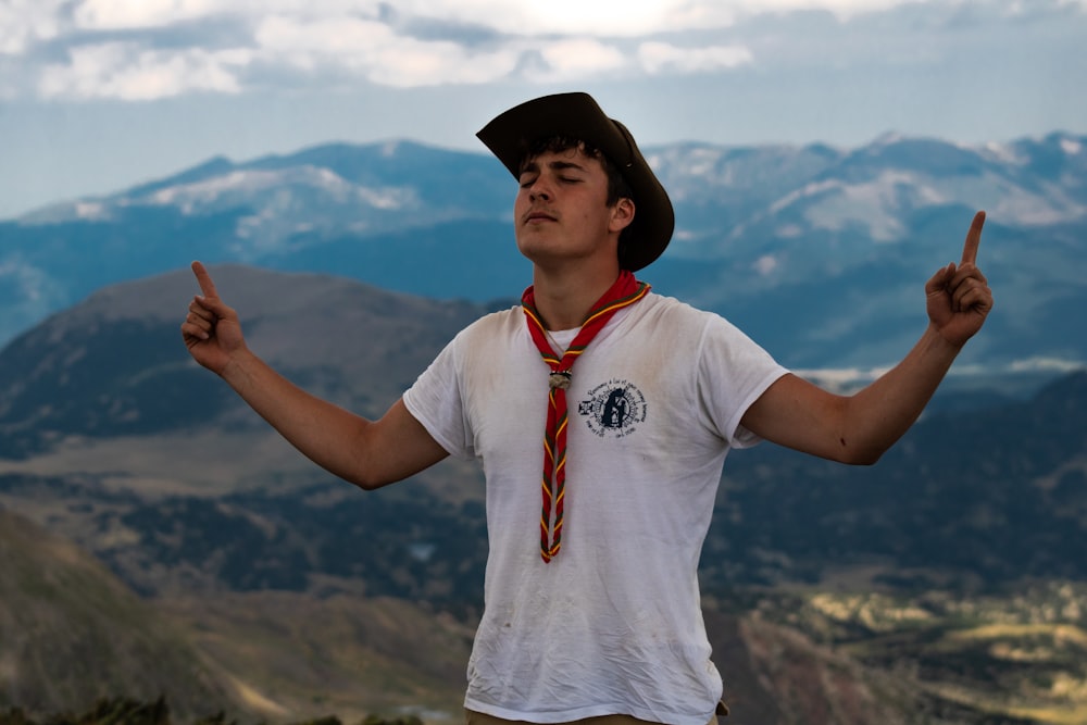
[[[988,212],[997,309],[896,448],[728,460],[700,578],[736,722],[1087,718],[1085,145],[646,149],[677,230],[640,276],[832,385],[901,358]],[[178,324],[201,259],[254,350],[377,415],[528,283],[513,192],[483,154],[327,145],[0,223],[0,707],[168,690],[182,716],[455,716],[477,467],[363,495]]]

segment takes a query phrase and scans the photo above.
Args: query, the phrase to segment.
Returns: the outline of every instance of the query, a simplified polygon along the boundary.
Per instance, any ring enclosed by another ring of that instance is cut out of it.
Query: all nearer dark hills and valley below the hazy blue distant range
[[[367,415],[490,309],[328,274],[212,273],[257,352]],[[487,553],[478,468],[446,461],[365,495],[333,479],[189,360],[178,324],[195,291],[188,271],[112,285],[0,349],[0,693],[22,682],[9,703],[86,707],[74,699],[134,662],[165,667],[147,652],[173,641],[191,658],[170,660],[190,677],[171,680],[185,712],[455,713]],[[700,577],[737,722],[1076,722],[1087,612],[1060,583],[1087,579],[1085,403],[1079,372],[1027,400],[935,409],[871,467],[732,455]],[[49,574],[55,557],[84,574]],[[26,667],[10,633],[68,618],[48,650],[61,659]],[[115,645],[97,646],[102,678],[48,689],[87,679],[61,666],[86,637]],[[155,697],[171,675],[152,670],[114,695]]]

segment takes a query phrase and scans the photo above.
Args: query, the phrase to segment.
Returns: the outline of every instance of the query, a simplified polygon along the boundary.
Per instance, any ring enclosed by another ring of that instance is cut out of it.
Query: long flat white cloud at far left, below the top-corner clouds
[[[152,100],[186,91],[237,92],[234,68],[248,62],[243,51],[200,49],[167,52],[111,42],[72,49],[70,63],[41,73],[45,98]]]

